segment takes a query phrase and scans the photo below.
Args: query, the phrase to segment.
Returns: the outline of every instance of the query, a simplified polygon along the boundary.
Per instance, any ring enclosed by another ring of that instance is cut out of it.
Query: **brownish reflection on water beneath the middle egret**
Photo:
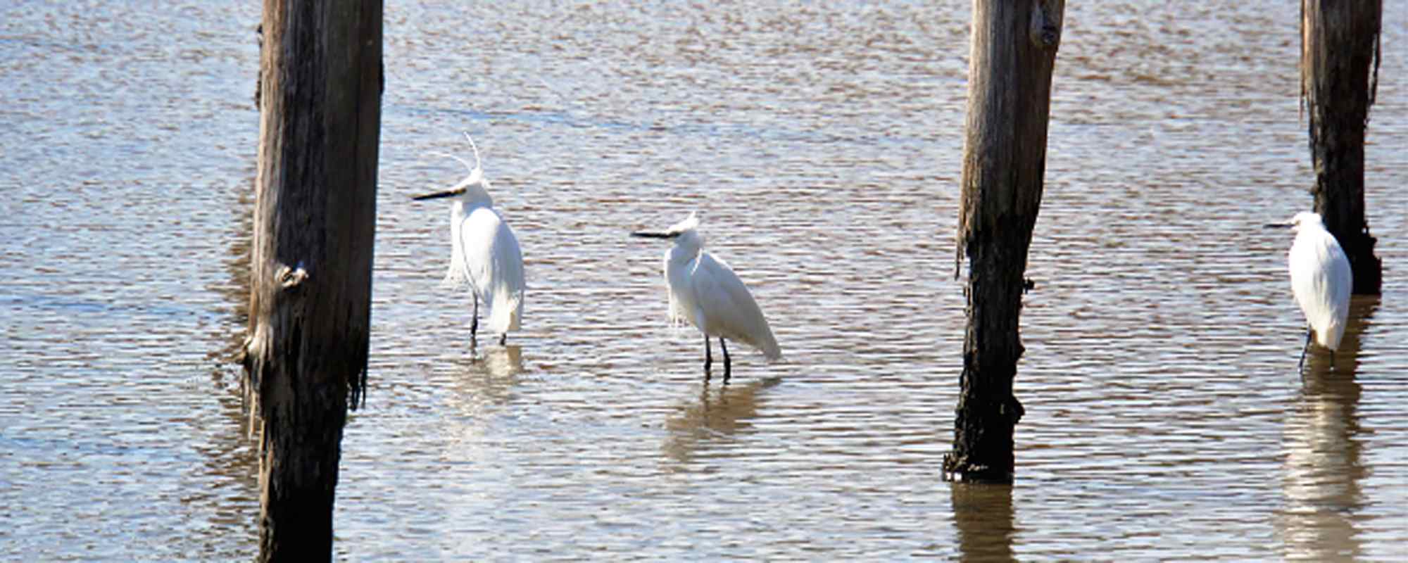
[[[703,445],[748,428],[765,403],[763,391],[779,383],[781,377],[718,388],[704,384],[697,403],[680,407],[679,414],[665,421],[665,428],[669,431],[663,446],[665,455],[676,462],[690,463]]]

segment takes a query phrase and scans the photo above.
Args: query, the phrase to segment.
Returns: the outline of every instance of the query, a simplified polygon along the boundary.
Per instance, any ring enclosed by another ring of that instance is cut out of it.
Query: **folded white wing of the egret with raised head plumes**
[[[470,284],[489,307],[487,328],[493,332],[517,329],[527,284],[514,231],[493,208],[474,208],[460,228],[460,251]]]

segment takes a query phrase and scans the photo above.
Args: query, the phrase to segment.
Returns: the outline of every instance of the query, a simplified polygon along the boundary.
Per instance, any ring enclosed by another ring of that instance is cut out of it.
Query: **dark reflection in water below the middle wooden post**
[[[1012,486],[953,483],[953,525],[963,560],[1014,562]]]

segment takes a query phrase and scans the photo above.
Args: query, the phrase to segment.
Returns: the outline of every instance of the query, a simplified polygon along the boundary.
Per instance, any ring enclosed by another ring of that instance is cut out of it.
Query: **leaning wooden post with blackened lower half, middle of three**
[[[967,329],[946,479],[1012,480],[1012,377],[1026,248],[1042,203],[1052,69],[1063,0],[973,0],[957,260],[969,258]],[[955,266],[959,266],[956,263]],[[955,272],[956,273],[956,272]]]

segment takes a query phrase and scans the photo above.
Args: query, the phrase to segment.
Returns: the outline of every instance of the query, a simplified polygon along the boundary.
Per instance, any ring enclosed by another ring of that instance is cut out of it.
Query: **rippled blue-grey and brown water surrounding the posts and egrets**
[[[248,559],[238,370],[259,7],[0,8],[0,553]],[[1281,3],[1071,4],[1031,249],[1012,487],[939,479],[967,4],[386,6],[370,388],[342,559],[1364,559],[1408,542],[1408,27],[1367,208],[1384,296],[1295,376],[1308,208]],[[480,144],[529,274],[467,353],[436,287]],[[665,322],[698,210],[787,362]]]

